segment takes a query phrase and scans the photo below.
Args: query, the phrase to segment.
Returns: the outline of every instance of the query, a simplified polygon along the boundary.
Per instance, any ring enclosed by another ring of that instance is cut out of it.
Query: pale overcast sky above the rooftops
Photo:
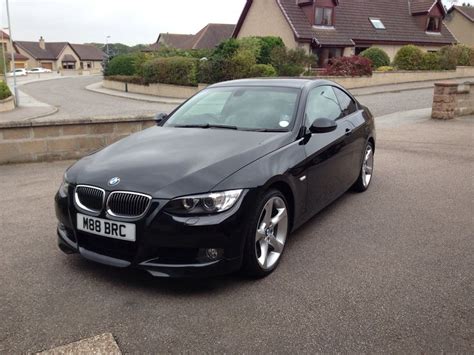
[[[374,0],[377,1],[377,0]],[[470,1],[474,4],[474,0]],[[446,3],[451,2],[445,0]],[[5,0],[0,24],[7,26]],[[245,0],[10,0],[13,38],[73,43],[153,43],[160,32],[196,33],[208,23],[237,23]]]

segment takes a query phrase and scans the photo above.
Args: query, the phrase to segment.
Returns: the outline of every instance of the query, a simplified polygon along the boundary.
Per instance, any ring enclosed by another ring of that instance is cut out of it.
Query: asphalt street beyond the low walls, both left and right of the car
[[[175,107],[103,95],[85,89],[87,85],[101,80],[100,76],[92,76],[39,81],[23,85],[21,90],[41,102],[59,108],[58,113],[48,119],[150,115],[169,112]],[[393,89],[396,90],[397,86],[394,85]],[[364,92],[362,89],[353,91],[355,94]],[[370,107],[374,115],[382,116],[400,110],[431,107],[433,88],[363,95],[358,99]]]

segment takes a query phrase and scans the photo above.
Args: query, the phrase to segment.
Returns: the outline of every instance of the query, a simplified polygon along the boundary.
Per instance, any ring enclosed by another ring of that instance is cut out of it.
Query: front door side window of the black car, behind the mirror
[[[331,86],[319,86],[311,90],[306,101],[305,112],[308,127],[318,118],[337,120],[343,116]]]

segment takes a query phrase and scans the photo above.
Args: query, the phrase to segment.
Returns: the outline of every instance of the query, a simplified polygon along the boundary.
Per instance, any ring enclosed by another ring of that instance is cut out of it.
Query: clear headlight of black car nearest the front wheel
[[[204,195],[185,196],[172,200],[166,210],[176,214],[211,214],[231,209],[243,190],[212,192]]]

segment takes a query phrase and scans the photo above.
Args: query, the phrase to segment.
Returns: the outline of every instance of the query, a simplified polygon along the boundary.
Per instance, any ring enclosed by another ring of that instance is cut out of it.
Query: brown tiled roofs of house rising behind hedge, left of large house
[[[210,23],[196,34],[160,33],[158,39],[146,51],[157,51],[160,48],[176,49],[212,49],[222,41],[232,37],[235,25]]]

